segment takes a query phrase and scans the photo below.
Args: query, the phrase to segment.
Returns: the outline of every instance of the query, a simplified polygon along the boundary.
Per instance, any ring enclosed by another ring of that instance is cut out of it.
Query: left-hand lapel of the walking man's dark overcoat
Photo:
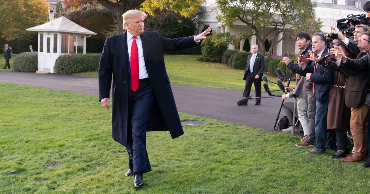
[[[118,56],[120,57],[122,68],[125,72],[128,72],[128,74],[131,74],[130,71],[128,71],[129,68],[129,59],[128,59],[128,48],[127,48],[127,33],[122,33],[118,38],[117,42],[115,44],[118,52]]]

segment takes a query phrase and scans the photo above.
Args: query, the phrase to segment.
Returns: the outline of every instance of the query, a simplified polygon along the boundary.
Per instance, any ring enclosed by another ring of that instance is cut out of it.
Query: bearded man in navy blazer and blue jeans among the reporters
[[[323,33],[315,33],[312,36],[312,51],[318,57],[328,54],[326,48],[326,38]],[[309,51],[310,52],[310,51]],[[309,150],[307,154],[323,154],[326,153],[326,148],[336,149],[333,142],[334,134],[330,133],[328,141],[326,142],[327,129],[327,108],[329,103],[329,88],[333,81],[333,71],[325,69],[315,62],[311,67],[305,64],[300,64],[302,69],[306,72],[306,79],[312,82],[312,92],[316,96],[316,115],[315,115],[315,135],[316,147]]]

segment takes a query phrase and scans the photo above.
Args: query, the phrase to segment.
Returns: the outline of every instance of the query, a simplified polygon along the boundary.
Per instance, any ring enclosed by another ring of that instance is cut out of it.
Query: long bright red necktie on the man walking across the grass
[[[136,44],[136,36],[132,37],[134,40],[131,45],[131,89],[136,91],[139,88],[139,51]]]

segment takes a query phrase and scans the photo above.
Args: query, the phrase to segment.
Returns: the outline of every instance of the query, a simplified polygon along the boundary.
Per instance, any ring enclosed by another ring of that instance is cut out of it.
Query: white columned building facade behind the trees
[[[346,18],[349,14],[363,14],[364,11],[362,6],[367,0],[356,1],[356,0],[311,0],[316,3],[315,7],[316,18],[322,21],[323,26],[336,26],[336,21],[341,18]],[[330,1],[330,2],[329,2]],[[353,5],[352,5],[353,4]],[[211,26],[212,30],[215,32],[229,32],[231,35],[236,35],[235,42],[233,45],[229,45],[228,49],[231,50],[243,50],[243,45],[245,40],[239,40],[238,33],[252,31],[252,28],[249,28],[245,23],[242,23],[240,20],[234,22],[233,29],[225,27],[222,23],[219,23],[216,20],[215,11],[212,11],[216,5],[215,0],[206,0],[206,3],[203,4],[205,7],[205,13],[201,19],[203,26]],[[201,28],[202,29],[202,26]],[[268,28],[265,29],[269,30]],[[271,33],[267,39],[270,44],[273,41],[277,31]],[[283,37],[283,40],[278,42],[273,48],[273,54],[283,56],[288,53],[299,53],[299,49],[295,44],[295,39],[284,37],[283,33],[277,35],[277,40]],[[249,44],[257,44],[257,38],[255,35],[248,39]]]

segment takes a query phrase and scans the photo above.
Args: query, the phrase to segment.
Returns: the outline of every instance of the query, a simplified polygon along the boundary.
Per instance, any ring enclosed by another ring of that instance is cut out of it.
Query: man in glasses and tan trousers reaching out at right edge
[[[370,113],[370,92],[369,92],[369,84],[370,84],[370,32],[365,32],[359,38],[358,47],[362,51],[360,55],[357,56],[357,59],[348,58],[343,50],[339,47],[334,47],[337,52],[337,55],[340,56],[342,59],[341,65],[339,66],[340,69],[348,68],[358,71],[358,74],[353,76],[357,78],[357,83],[353,81],[352,85],[349,85],[349,78],[347,78],[347,85],[348,88],[353,90],[353,98],[348,99],[346,98],[346,105],[348,103],[353,103],[351,107],[351,120],[350,120],[350,131],[353,136],[353,143],[354,143],[354,152],[350,156],[341,159],[345,162],[351,161],[360,161],[366,154],[367,149],[367,133],[368,133],[368,119]],[[361,57],[363,56],[363,57]],[[364,71],[366,70],[366,71]],[[345,71],[345,70],[344,70]],[[353,79],[354,79],[353,78]],[[367,82],[364,82],[367,80]],[[346,87],[347,88],[347,87]],[[346,92],[349,90],[346,90]],[[351,102],[352,101],[352,102]],[[349,106],[349,105],[347,105]],[[363,164],[364,167],[370,167],[370,160]]]

